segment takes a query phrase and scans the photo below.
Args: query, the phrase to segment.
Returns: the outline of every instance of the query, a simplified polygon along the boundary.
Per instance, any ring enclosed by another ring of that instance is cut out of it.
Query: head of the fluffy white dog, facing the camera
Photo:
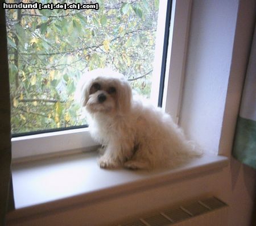
[[[81,79],[80,101],[90,113],[126,114],[131,106],[131,86],[125,76],[110,69],[95,69]]]

